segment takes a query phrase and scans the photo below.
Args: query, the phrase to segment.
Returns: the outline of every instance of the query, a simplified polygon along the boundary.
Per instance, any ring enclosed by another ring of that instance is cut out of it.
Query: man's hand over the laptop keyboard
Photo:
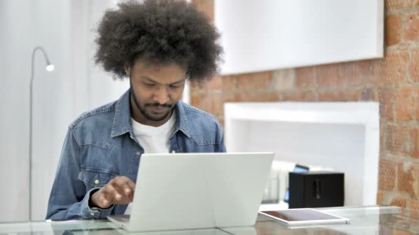
[[[109,208],[113,204],[127,204],[134,199],[134,190],[135,183],[130,178],[118,176],[94,192],[90,201],[98,208]]]

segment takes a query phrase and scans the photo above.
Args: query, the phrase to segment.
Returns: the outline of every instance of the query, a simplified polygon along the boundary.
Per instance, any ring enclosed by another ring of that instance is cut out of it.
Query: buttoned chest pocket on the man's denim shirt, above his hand
[[[106,183],[116,176],[118,176],[118,174],[111,172],[82,169],[81,172],[79,172],[78,178],[83,181],[86,191],[89,191],[92,188],[101,188],[105,186]]]

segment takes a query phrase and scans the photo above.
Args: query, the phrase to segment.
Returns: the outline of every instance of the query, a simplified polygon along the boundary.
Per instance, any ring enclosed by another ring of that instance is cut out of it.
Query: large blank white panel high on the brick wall
[[[215,0],[222,74],[384,55],[384,0]]]

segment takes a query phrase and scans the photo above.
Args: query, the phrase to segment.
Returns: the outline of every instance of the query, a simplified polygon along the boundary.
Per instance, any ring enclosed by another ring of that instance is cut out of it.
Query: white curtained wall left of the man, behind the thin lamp
[[[45,217],[68,124],[115,100],[129,83],[92,63],[94,22],[114,1],[0,1],[0,221],[28,220],[29,82],[32,49],[45,48],[56,70],[35,58],[32,219]]]

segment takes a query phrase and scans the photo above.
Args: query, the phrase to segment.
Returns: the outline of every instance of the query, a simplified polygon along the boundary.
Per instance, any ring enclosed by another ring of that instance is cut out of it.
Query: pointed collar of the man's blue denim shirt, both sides
[[[111,137],[123,135],[125,133],[132,134],[131,122],[131,106],[130,106],[131,90],[128,89],[115,104],[114,122],[112,124]],[[181,101],[176,102],[176,128],[174,133],[182,131],[187,137],[191,137],[190,125],[187,120],[184,103]]]

